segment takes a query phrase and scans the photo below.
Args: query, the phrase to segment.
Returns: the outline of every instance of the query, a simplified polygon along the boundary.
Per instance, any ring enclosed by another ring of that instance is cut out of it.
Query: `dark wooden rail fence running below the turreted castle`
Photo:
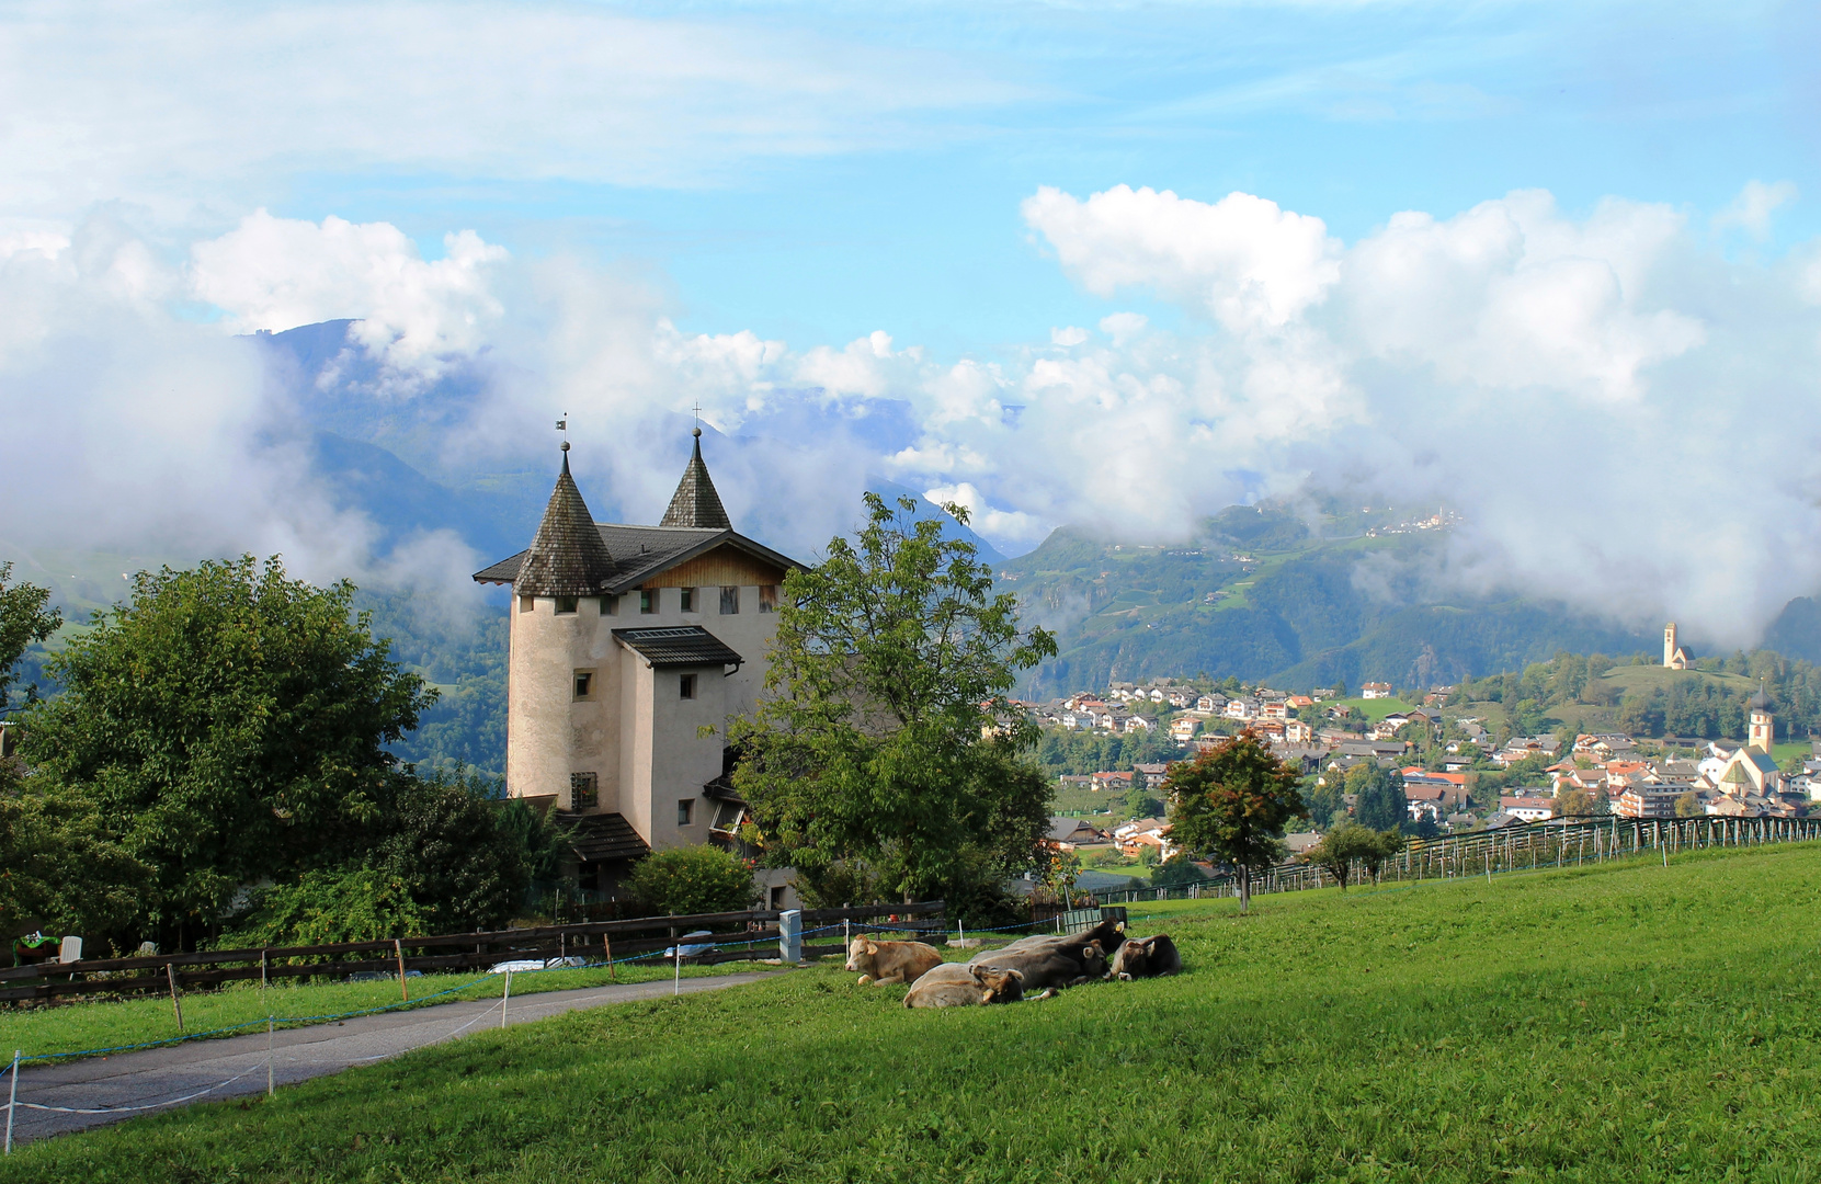
[[[408,971],[490,969],[501,962],[530,958],[610,958],[634,962],[656,958],[685,933],[708,929],[712,938],[694,944],[739,944],[685,956],[690,964],[739,962],[778,956],[776,909],[748,913],[699,913],[692,916],[645,916],[579,925],[543,925],[537,929],[499,929],[492,933],[448,933],[439,936],[386,938],[381,942],[337,942],[330,945],[284,945],[270,949],[209,949],[193,954],[157,954],[151,958],[84,958],[80,962],[40,962],[0,969],[0,1000],[55,1000],[64,995],[131,995],[213,985],[231,980],[315,978],[381,973],[397,975],[402,985]],[[881,918],[889,918],[880,925]],[[903,929],[914,934],[947,933],[943,902],[907,905],[861,905],[852,909],[803,909],[803,954],[816,956],[845,949],[834,925],[847,929]],[[823,933],[818,934],[816,929]],[[657,936],[646,936],[657,934]],[[816,938],[821,944],[814,944]],[[415,951],[415,953],[410,953]],[[424,953],[448,951],[448,953]]]

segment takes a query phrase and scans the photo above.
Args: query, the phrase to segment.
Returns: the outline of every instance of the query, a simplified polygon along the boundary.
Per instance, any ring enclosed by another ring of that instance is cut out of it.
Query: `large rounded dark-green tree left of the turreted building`
[[[353,585],[246,556],[140,572],[133,599],[49,663],[64,694],[27,716],[46,783],[95,803],[151,869],[144,913],[193,942],[239,887],[364,851],[435,692],[350,612]]]

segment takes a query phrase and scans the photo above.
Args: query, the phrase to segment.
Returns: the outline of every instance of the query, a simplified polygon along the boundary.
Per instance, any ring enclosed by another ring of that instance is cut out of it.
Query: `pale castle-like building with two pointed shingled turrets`
[[[475,572],[512,587],[506,792],[574,829],[583,889],[610,893],[650,851],[732,842],[727,725],[765,683],[792,568],[734,530],[696,428],[656,526],[594,521],[565,441],[532,545]]]

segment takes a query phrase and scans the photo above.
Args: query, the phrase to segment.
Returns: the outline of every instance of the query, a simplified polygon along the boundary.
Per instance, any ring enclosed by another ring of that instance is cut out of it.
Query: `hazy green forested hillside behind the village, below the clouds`
[[[1444,532],[1389,534],[1400,517],[1329,506],[1306,521],[1262,503],[1231,506],[1176,545],[1056,530],[998,566],[1002,587],[1060,634],[1062,652],[1025,690],[1196,674],[1293,690],[1428,687],[1521,670],[1559,650],[1630,654],[1653,643],[1537,601],[1424,603]]]

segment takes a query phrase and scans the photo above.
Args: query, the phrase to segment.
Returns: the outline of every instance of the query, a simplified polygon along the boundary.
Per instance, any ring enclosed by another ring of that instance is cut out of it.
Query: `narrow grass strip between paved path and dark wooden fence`
[[[776,949],[770,951],[776,954]],[[728,975],[754,969],[747,962],[728,962],[717,965],[685,965],[683,976]],[[537,995],[543,991],[568,991],[574,987],[599,987],[608,982],[652,982],[670,978],[672,967],[665,965],[617,965],[610,976],[606,967],[537,971],[512,976],[512,995]],[[412,1007],[450,1004],[464,998],[499,998],[504,984],[499,975],[481,975],[468,971],[463,975],[422,975],[406,978],[412,993]],[[450,991],[450,987],[463,987]],[[444,995],[444,991],[450,991]],[[435,996],[435,998],[430,998]],[[342,1015],[364,1011],[368,1007],[386,1007],[399,1004],[399,982],[293,982],[280,980],[268,987],[262,998],[259,984],[233,982],[219,989],[186,991],[184,1031],[191,1036],[219,1029],[233,1029],[240,1024],[259,1022],[264,1026],[266,1015],[280,1020],[310,1016]],[[402,1009],[402,1007],[401,1007]],[[279,1027],[297,1027],[299,1024],[279,1024]],[[148,1044],[153,1040],[171,1040],[178,1036],[177,1016],[171,1011],[168,995],[142,995],[133,998],[97,998],[58,1002],[55,1007],[4,1007],[0,1009],[0,1060],[11,1060],[13,1049],[22,1049],[25,1058],[47,1056],[55,1053],[78,1053],[86,1049],[111,1049],[129,1044]],[[222,1031],[220,1035],[237,1035]],[[4,1106],[4,1100],[0,1100]]]

